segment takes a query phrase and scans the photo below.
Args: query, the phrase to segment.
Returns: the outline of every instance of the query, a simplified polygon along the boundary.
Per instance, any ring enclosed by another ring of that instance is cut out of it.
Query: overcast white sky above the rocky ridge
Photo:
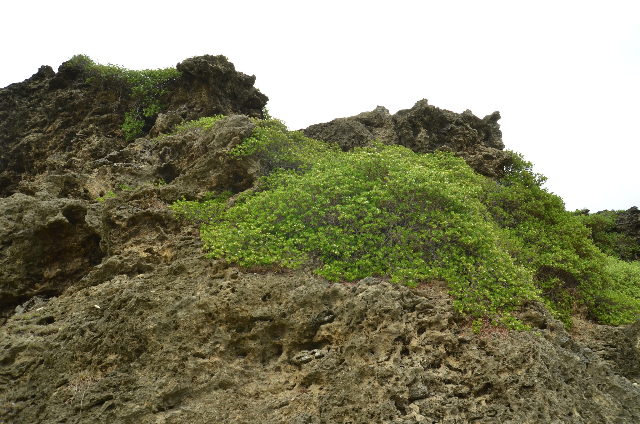
[[[419,99],[499,110],[568,209],[640,206],[639,1],[2,2],[0,86],[76,53],[224,54],[292,129]]]

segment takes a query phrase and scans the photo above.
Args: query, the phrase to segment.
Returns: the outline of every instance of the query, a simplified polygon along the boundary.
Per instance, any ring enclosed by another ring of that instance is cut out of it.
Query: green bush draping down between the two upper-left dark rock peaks
[[[115,90],[120,99],[129,97],[131,110],[122,124],[127,142],[143,134],[145,118],[156,117],[164,108],[161,102],[169,94],[167,86],[180,76],[175,68],[132,70],[111,63],[102,65],[86,54],[76,54],[67,65],[81,67],[87,83]]]

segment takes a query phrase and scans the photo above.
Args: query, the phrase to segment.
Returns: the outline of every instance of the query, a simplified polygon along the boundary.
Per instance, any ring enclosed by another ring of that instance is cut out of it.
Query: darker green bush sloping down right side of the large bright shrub
[[[624,321],[617,309],[604,314],[600,307],[617,304],[620,296],[611,289],[616,284],[607,272],[609,258],[593,244],[591,231],[565,211],[560,197],[542,188],[546,178],[532,172],[531,163],[511,153],[505,177],[484,184],[484,202],[504,230],[504,246],[534,274],[548,306],[567,326],[578,304],[586,304],[591,318],[602,323]]]

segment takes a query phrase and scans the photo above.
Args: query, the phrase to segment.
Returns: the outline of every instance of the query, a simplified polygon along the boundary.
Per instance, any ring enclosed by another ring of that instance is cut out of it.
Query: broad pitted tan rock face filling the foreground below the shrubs
[[[523,314],[543,329],[474,336],[437,287],[243,275],[189,232],[170,243],[172,263],[34,302],[0,329],[8,420],[640,420],[637,370],[617,375],[540,308]]]

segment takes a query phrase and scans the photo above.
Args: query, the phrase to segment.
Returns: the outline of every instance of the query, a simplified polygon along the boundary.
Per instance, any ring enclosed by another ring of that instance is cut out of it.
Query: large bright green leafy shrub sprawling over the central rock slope
[[[246,268],[296,268],[317,256],[323,265],[316,273],[330,281],[380,275],[415,286],[442,279],[461,312],[517,325],[508,312],[536,289],[500,249],[479,200],[483,177],[452,154],[381,143],[335,153],[307,172],[273,172],[203,225],[209,256]]]

